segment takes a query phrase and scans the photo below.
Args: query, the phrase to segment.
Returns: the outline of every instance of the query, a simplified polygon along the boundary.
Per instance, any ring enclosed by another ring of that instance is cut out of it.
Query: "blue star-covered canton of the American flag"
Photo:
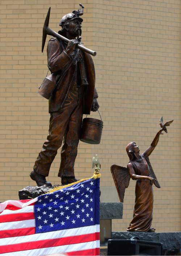
[[[100,179],[41,195],[34,206],[35,233],[92,226],[99,218]]]

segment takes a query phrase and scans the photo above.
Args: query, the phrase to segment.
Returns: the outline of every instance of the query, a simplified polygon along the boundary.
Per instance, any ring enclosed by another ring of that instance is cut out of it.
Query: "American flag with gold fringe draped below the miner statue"
[[[0,204],[0,256],[99,255],[99,183],[87,179]]]

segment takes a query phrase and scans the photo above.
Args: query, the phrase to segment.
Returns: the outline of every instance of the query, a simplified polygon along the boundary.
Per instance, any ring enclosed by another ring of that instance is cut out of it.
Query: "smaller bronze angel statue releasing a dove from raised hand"
[[[160,184],[156,179],[148,157],[155,149],[160,134],[163,134],[162,131],[167,132],[166,126],[169,126],[172,122],[173,120],[164,124],[163,117],[161,117],[160,125],[162,129],[157,132],[150,147],[141,155],[139,154],[139,147],[135,142],[127,145],[126,152],[130,159],[127,168],[115,164],[111,165],[111,173],[121,202],[124,199],[125,188],[129,186],[130,177],[132,180],[136,180],[133,219],[127,231],[155,232],[155,229],[151,228],[153,212],[152,184],[155,184],[157,188],[160,188]]]

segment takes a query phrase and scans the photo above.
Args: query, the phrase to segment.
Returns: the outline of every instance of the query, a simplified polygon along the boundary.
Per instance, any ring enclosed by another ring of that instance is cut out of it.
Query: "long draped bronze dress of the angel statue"
[[[149,167],[144,155],[141,160],[131,161],[135,174],[149,176]],[[137,180],[135,188],[133,219],[127,231],[148,231],[152,223],[153,188],[150,180]]]

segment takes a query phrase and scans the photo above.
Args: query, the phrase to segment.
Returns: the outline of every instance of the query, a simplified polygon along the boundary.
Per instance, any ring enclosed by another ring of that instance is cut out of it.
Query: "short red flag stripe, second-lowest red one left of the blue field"
[[[34,213],[28,212],[28,213],[13,213],[8,215],[2,215],[0,216],[0,223],[7,223],[10,221],[22,221],[22,220],[32,220],[34,219]]]

